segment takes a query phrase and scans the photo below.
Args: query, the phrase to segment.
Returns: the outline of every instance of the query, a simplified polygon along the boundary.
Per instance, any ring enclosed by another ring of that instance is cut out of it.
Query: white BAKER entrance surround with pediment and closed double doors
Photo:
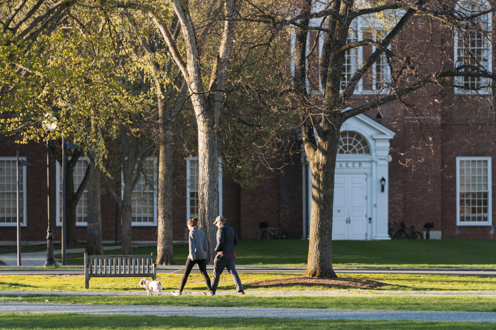
[[[341,127],[341,132],[345,131],[358,133],[369,148],[363,154],[337,155],[333,239],[390,239],[387,234],[389,140],[395,133],[364,114],[348,119]],[[311,172],[304,149],[302,155],[303,238],[308,238]],[[382,178],[385,179],[384,189],[380,183]]]

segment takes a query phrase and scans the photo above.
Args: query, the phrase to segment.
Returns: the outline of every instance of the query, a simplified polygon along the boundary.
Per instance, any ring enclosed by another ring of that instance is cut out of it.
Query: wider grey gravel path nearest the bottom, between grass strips
[[[91,315],[154,315],[191,317],[291,318],[314,320],[446,321],[496,323],[492,312],[369,311],[312,308],[189,307],[143,305],[81,305],[52,303],[0,303],[2,313],[77,313]]]

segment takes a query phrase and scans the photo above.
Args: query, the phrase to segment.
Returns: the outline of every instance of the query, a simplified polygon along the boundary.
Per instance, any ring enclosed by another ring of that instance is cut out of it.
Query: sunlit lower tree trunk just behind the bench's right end
[[[161,134],[159,143],[157,265],[176,265],[172,255],[172,123],[167,126],[168,135]]]

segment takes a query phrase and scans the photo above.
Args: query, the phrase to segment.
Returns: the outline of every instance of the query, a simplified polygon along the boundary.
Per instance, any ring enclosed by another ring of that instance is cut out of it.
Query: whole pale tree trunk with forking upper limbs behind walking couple
[[[189,14],[186,2],[169,0],[171,7],[176,13],[184,38],[184,53],[182,56],[180,48],[172,38],[169,30],[159,22],[157,17],[149,12],[154,22],[159,27],[164,41],[171,55],[180,68],[191,95],[191,103],[198,124],[198,206],[199,206],[199,228],[207,234],[209,241],[209,262],[213,260],[215,246],[216,226],[212,223],[219,215],[219,164],[217,154],[217,127],[219,122],[219,110],[225,97],[225,79],[227,65],[233,46],[235,26],[238,9],[241,1],[229,0],[222,3],[224,21],[221,43],[210,75],[208,88],[203,88],[206,80],[200,66],[200,55],[198,54],[197,32],[199,27],[195,26]],[[213,2],[212,2],[213,3]],[[182,48],[181,47],[181,48]],[[207,92],[206,92],[207,91]],[[208,102],[207,102],[208,99]]]

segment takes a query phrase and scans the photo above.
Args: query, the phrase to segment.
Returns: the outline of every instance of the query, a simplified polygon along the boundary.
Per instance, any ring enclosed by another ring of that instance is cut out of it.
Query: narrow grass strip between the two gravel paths
[[[234,291],[233,291],[234,293]],[[259,296],[172,295],[147,296],[0,296],[0,302],[36,302],[93,305],[160,305],[209,307],[324,308],[405,311],[496,312],[496,297],[477,295],[349,295],[349,296]]]

